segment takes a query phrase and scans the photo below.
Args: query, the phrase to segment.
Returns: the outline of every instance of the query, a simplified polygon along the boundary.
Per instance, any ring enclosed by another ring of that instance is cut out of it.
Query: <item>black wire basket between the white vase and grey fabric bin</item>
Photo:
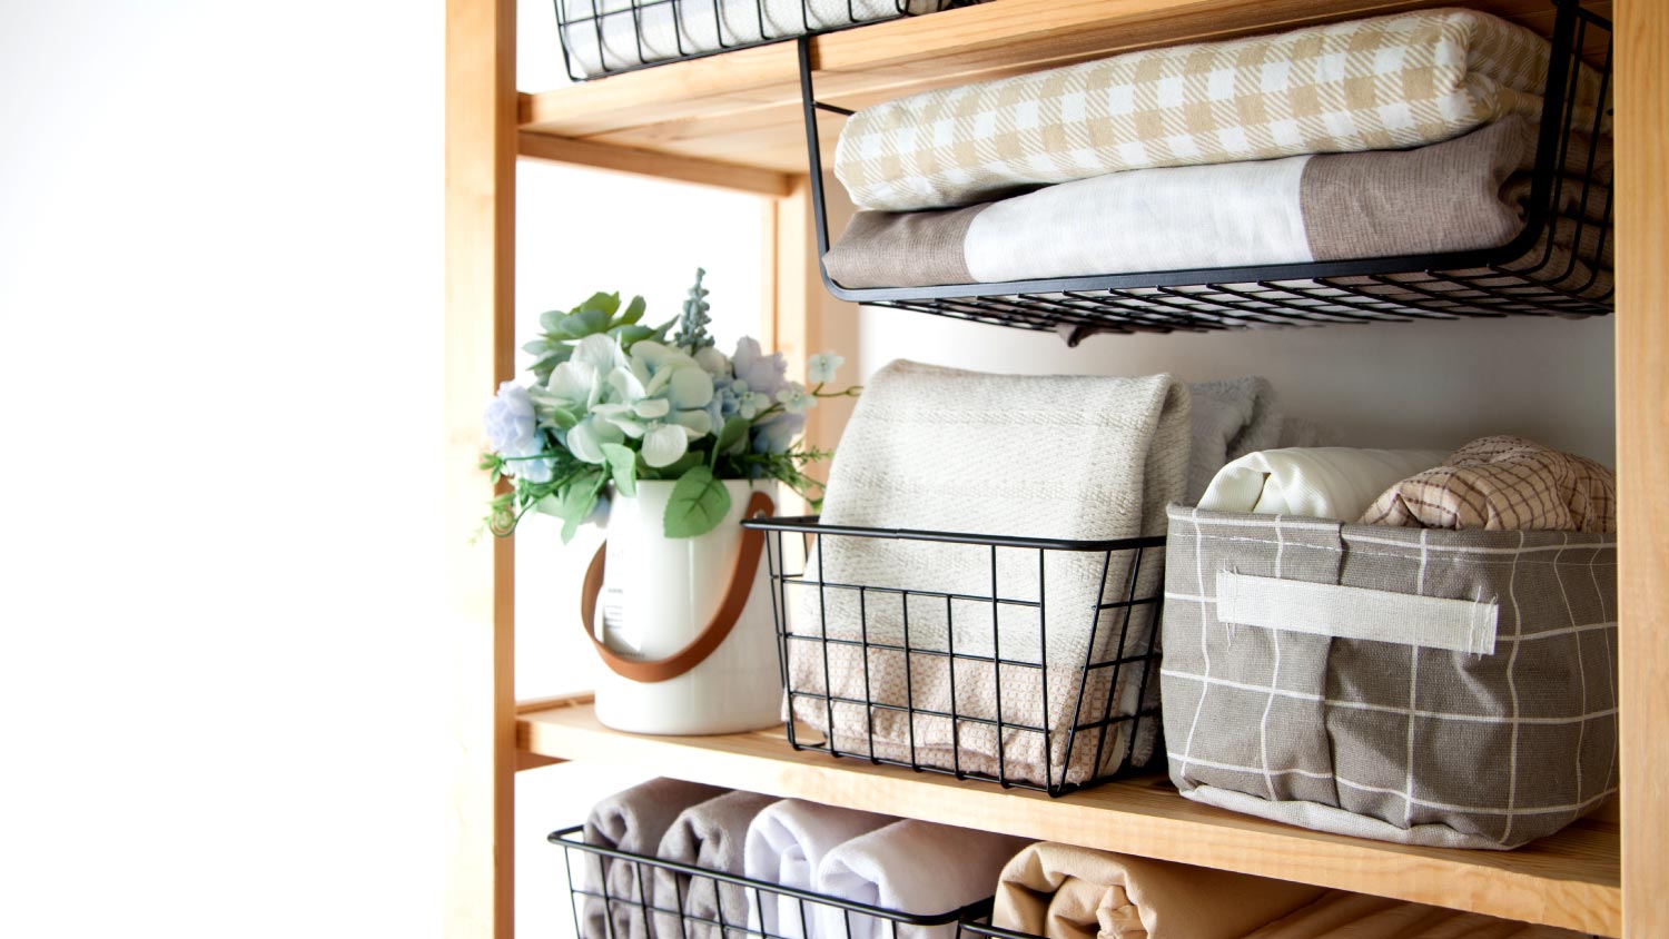
[[[1050,796],[1163,754],[1163,537],[743,525],[766,532],[794,749]]]

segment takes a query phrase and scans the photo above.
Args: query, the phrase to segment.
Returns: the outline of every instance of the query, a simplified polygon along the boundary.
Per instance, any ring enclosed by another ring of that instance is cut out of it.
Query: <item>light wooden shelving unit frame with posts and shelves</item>
[[[813,42],[819,97],[891,97],[1108,53],[1455,2],[1547,32],[1547,0],[993,0]],[[639,737],[584,702],[512,700],[512,544],[471,542],[491,487],[481,402],[514,377],[514,162],[544,158],[751,192],[769,207],[779,345],[824,304],[808,239],[791,43],[541,93],[514,87],[514,0],[447,2],[447,522],[457,622],[447,936],[512,934],[512,777],[552,759],[988,827],[1629,939],[1669,936],[1669,3],[1616,18],[1622,804],[1514,852],[1367,842],[1197,806],[1162,779],[1065,799],[791,751],[781,734]],[[838,118],[824,140],[833,143]]]

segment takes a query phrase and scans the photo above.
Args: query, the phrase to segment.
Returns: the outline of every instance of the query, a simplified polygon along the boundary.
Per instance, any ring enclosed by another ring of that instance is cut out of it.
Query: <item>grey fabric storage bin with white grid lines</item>
[[[1162,689],[1183,796],[1517,847],[1617,789],[1616,535],[1173,505]]]

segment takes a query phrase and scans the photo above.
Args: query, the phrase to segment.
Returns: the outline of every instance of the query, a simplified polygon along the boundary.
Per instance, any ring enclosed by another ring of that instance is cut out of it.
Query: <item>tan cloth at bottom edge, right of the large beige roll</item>
[[[1329,891],[1245,939],[1586,939],[1552,926]]]

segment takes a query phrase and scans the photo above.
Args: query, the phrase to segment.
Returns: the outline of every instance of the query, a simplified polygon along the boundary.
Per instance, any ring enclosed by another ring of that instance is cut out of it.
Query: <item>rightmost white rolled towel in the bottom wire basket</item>
[[[916,916],[953,912],[990,897],[1003,866],[1025,846],[1023,837],[906,819],[829,851],[818,867],[818,892]],[[818,921],[824,939],[956,936],[955,922],[896,926],[838,907],[819,909]]]

